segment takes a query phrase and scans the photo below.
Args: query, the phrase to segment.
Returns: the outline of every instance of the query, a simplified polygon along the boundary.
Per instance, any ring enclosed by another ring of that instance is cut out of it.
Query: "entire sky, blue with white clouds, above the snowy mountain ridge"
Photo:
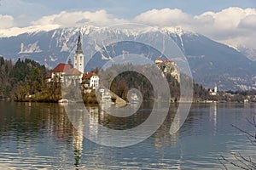
[[[0,37],[127,22],[180,27],[256,49],[255,0],[0,0]]]

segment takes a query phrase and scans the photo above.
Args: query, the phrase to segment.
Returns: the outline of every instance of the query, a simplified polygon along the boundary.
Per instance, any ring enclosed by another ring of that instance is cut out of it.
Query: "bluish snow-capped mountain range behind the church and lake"
[[[230,48],[219,42],[197,33],[183,31],[181,28],[161,28],[171,37],[189,61],[195,82],[203,84],[206,88],[212,88],[216,83],[219,89],[237,90],[256,88],[256,62],[241,54],[235,48]],[[83,49],[95,48],[93,66],[101,66],[102,63],[112,59],[113,55],[124,53],[144,54],[147,50],[140,45],[132,46],[131,43],[116,43],[105,50],[90,44],[90,34],[100,32],[108,37],[120,37],[120,39],[137,39],[147,41],[154,39],[157,32],[152,29],[132,31],[130,29],[107,29],[96,26],[83,26],[73,28],[60,28],[52,31],[37,31],[25,33],[16,37],[0,38],[0,55],[14,62],[18,58],[34,59],[40,64],[54,68],[60,62],[67,62],[67,58],[73,56],[79,34],[83,35]],[[115,50],[113,50],[113,48]],[[158,57],[157,52],[151,54]],[[88,60],[88,59],[87,59]],[[86,61],[86,59],[85,59]]]

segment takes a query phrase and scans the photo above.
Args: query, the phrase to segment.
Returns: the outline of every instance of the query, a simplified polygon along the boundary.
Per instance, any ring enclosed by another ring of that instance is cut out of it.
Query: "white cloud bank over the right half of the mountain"
[[[186,14],[177,8],[152,9],[139,14],[134,21],[150,26],[179,26],[218,42],[225,42],[232,46],[238,46],[241,43],[255,48],[255,8],[230,7],[199,15]]]

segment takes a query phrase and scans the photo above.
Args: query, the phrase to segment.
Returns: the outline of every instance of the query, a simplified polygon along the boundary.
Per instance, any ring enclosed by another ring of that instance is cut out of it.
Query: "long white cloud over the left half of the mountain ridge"
[[[14,19],[11,16],[1,17],[0,21],[3,20],[12,20],[18,25],[20,23],[20,17],[22,20],[28,20],[25,16],[19,16]],[[52,14],[44,16],[39,20],[31,21],[31,26],[15,26],[14,24],[8,24],[5,22],[6,26],[0,26],[0,37],[10,37],[17,36],[21,33],[32,32],[32,31],[49,31],[61,27],[73,27],[73,26],[84,26],[84,25],[93,25],[93,26],[111,26],[119,23],[127,23],[127,20],[118,19],[112,14],[108,14],[105,10],[99,10],[96,12],[67,12],[62,11],[59,14]],[[2,23],[2,22],[1,22]],[[10,23],[10,21],[9,21]],[[13,27],[12,27],[13,26]]]

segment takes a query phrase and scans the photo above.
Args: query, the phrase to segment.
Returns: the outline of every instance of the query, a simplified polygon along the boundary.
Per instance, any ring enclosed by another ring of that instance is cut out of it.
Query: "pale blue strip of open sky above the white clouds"
[[[1,14],[14,16],[32,14],[35,17],[55,14],[63,10],[105,9],[110,14],[131,19],[152,8],[180,8],[189,14],[217,12],[229,7],[256,8],[254,0],[0,0],[0,2]]]

